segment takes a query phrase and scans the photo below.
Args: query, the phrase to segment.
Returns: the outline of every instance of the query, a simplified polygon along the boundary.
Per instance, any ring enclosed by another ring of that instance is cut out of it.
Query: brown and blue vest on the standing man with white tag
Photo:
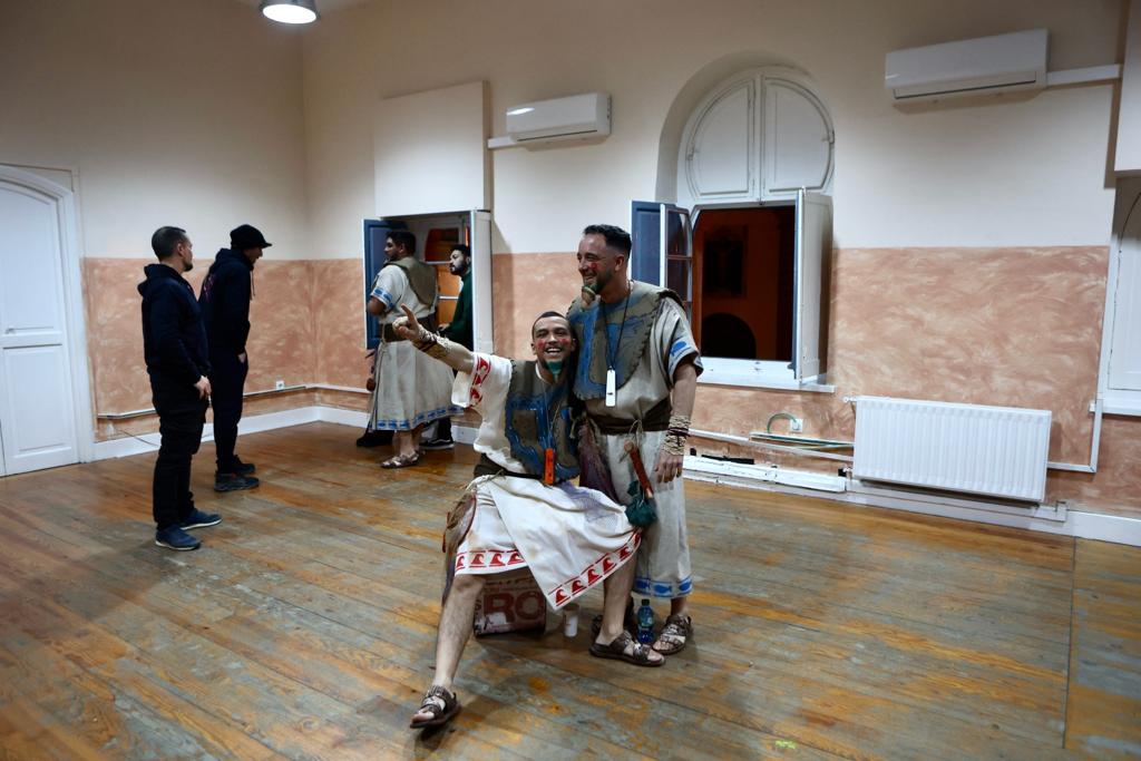
[[[602,303],[601,299],[584,307],[575,299],[567,313],[567,321],[578,339],[578,366],[575,372],[574,392],[580,399],[601,399],[606,396],[607,349],[613,353],[616,387],[622,388],[638,369],[657,321],[662,299],[681,303],[669,289],[631,281],[630,303]],[[625,327],[622,316],[625,313]],[[620,339],[621,335],[621,339]]]

